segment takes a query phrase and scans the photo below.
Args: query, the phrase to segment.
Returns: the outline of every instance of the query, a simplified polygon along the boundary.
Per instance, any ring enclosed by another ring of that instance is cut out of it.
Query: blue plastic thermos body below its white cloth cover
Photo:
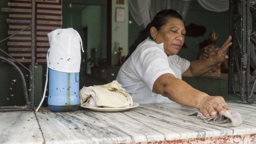
[[[77,111],[79,106],[79,72],[66,73],[49,68],[49,109],[69,112]]]

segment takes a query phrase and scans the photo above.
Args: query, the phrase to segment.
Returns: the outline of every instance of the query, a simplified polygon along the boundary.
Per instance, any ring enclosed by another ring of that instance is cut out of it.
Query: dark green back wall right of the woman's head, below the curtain
[[[199,43],[207,40],[211,31],[215,30],[219,34],[219,40],[217,41],[219,47],[221,47],[228,38],[229,11],[211,12],[202,8],[197,0],[192,0],[185,18],[185,26],[188,26],[190,23],[204,26],[206,29],[203,36],[185,38],[187,48],[182,48],[178,55],[190,61],[197,59]]]

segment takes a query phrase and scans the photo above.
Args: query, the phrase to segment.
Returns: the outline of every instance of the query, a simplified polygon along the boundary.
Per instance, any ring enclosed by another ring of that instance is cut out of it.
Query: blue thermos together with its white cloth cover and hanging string
[[[82,40],[73,28],[56,29],[48,33],[47,74],[43,98],[46,92],[49,70],[48,106],[54,112],[77,111],[80,105],[79,72]],[[83,51],[84,52],[84,51]]]

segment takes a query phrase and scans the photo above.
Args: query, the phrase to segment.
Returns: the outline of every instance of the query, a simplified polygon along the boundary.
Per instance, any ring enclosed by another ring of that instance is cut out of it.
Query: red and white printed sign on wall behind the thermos
[[[10,0],[8,34],[12,35],[31,24],[31,1]],[[49,49],[47,34],[62,27],[62,2],[61,0],[36,0],[35,1],[35,62],[46,64],[46,55]],[[31,28],[28,28],[8,41],[9,54],[23,64],[31,64]]]

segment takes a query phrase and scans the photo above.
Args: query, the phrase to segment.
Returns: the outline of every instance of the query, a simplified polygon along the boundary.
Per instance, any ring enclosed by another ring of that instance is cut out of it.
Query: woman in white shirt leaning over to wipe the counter
[[[231,37],[217,55],[189,62],[176,55],[184,44],[185,34],[181,15],[174,10],[158,12],[130,47],[116,80],[135,102],[174,101],[195,107],[206,117],[216,115],[215,111],[223,114],[225,109],[231,113],[223,97],[209,96],[181,80],[182,76],[199,76],[227,59]]]

